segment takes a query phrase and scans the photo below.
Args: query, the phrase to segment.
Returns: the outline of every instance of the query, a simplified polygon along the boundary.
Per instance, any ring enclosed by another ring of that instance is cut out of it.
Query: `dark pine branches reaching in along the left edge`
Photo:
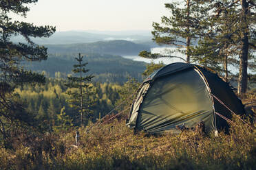
[[[2,0],[0,2],[0,124],[2,129],[3,119],[12,122],[29,121],[22,104],[14,101],[14,88],[25,83],[45,82],[43,75],[25,71],[20,63],[47,59],[47,49],[35,45],[30,38],[49,37],[55,32],[55,27],[37,27],[32,23],[12,21],[10,18],[10,13],[26,16],[30,10],[27,5],[36,2],[37,0]],[[14,43],[10,39],[12,36],[22,36],[25,42]]]

